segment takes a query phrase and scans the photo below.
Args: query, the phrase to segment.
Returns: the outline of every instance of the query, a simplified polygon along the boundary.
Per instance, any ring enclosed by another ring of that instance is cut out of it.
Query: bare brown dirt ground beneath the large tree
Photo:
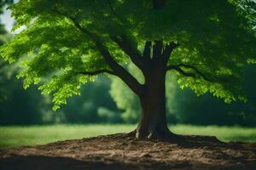
[[[0,150],[0,169],[256,170],[256,144],[185,138],[175,143],[113,134]]]

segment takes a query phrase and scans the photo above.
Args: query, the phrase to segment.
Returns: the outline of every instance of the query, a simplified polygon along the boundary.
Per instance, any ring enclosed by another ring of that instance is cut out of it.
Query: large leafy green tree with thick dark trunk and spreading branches
[[[256,63],[252,0],[20,0],[10,9],[14,30],[27,27],[1,55],[19,62],[37,54],[22,62],[19,77],[25,88],[44,83],[39,89],[54,95],[55,110],[96,75],[113,75],[140,100],[136,137],[175,139],[166,126],[167,71],[196,94],[246,100],[242,67]],[[125,69],[129,60],[143,82]]]

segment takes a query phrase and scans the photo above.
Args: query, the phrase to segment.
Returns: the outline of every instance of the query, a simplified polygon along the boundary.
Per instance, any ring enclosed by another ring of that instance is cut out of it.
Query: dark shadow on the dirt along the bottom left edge
[[[79,170],[79,169],[130,169],[120,163],[79,161],[68,157],[11,156],[0,161],[3,170]]]

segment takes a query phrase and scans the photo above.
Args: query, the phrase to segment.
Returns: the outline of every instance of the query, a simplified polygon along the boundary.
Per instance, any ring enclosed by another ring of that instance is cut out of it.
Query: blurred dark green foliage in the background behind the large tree
[[[0,1],[0,14],[11,0]],[[12,35],[0,23],[0,45]],[[129,71],[142,75],[134,65]],[[38,87],[22,88],[16,79],[19,68],[0,59],[0,125],[32,125],[54,123],[136,123],[140,116],[137,96],[119,78],[97,77],[81,89],[81,95],[68,99],[60,111],[52,111],[50,96],[41,95]],[[195,125],[256,126],[256,67],[246,68],[243,88],[247,103],[224,104],[211,94],[196,96],[191,90],[181,90],[174,74],[167,75],[166,110],[169,123]]]

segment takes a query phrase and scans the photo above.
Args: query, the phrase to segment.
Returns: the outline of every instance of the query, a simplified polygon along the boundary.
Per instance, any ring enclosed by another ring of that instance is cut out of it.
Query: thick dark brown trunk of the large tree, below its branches
[[[145,77],[146,88],[139,99],[141,122],[137,127],[139,139],[166,139],[172,137],[166,124],[166,71],[154,69]]]

